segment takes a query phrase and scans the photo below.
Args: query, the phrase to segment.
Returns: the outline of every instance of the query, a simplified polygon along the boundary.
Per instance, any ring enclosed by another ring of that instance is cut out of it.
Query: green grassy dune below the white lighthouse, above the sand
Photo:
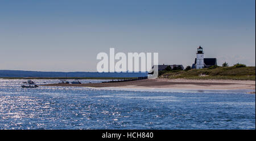
[[[240,63],[232,67],[212,66],[205,69],[160,71],[159,78],[169,75],[169,79],[233,79],[233,80],[255,80],[255,67],[246,67]]]

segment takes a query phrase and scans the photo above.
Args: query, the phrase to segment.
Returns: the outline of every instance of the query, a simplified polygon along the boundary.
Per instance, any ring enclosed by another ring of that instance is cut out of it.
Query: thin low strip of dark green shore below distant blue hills
[[[48,78],[40,78],[40,77],[3,77],[2,79],[137,79],[137,78],[121,78],[121,77],[48,77]]]

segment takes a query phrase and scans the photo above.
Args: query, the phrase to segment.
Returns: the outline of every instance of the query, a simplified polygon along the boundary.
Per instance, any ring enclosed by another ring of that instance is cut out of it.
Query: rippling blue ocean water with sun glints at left
[[[22,88],[23,81],[0,79],[0,129],[255,129],[247,90]]]

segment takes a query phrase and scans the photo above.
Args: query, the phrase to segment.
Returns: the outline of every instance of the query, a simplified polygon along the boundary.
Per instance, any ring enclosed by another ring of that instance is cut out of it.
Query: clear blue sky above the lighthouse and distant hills
[[[255,1],[0,1],[0,70],[96,71],[100,52],[255,66]]]

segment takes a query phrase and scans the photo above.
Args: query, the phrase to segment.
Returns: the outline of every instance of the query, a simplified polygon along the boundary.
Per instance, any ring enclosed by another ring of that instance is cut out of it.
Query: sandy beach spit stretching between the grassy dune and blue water
[[[252,80],[192,80],[192,79],[144,79],[129,82],[45,84],[42,86],[69,87],[119,87],[119,88],[166,88],[166,89],[253,89]]]

